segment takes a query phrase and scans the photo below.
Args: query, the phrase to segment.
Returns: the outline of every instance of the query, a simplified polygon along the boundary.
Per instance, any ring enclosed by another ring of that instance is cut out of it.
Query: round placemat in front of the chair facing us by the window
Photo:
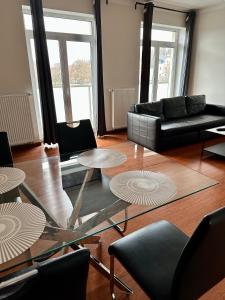
[[[83,152],[78,157],[78,162],[89,168],[112,168],[121,165],[127,156],[112,149],[93,149]]]

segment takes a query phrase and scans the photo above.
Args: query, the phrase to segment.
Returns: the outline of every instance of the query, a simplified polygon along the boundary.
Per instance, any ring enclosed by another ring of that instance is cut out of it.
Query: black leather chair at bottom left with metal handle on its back
[[[6,278],[0,283],[0,299],[85,300],[89,260],[89,250],[82,249],[42,262],[35,269],[17,272],[10,276],[13,281]]]

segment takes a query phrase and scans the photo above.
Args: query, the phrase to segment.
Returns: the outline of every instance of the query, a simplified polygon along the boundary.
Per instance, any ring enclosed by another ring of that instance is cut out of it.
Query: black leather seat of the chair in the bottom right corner
[[[152,299],[168,300],[179,257],[188,236],[160,221],[118,240],[109,253],[122,263]]]

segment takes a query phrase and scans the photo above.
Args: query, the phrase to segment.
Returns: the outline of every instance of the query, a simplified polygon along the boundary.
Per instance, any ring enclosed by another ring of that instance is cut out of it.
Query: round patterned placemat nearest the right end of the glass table
[[[157,207],[169,202],[176,194],[176,186],[169,177],[150,171],[120,173],[109,185],[115,196],[138,205]]]

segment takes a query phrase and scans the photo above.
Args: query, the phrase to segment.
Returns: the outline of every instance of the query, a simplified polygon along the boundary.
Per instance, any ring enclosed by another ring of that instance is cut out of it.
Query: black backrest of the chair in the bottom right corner
[[[180,257],[171,299],[198,299],[225,277],[225,208],[203,218]]]

